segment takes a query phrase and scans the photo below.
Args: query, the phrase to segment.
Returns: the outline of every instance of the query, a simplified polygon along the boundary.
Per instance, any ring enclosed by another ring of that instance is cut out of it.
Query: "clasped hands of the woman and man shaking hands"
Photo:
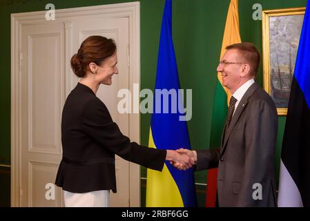
[[[185,171],[197,162],[197,152],[184,148],[177,151],[167,150],[166,160],[170,161],[176,169]]]

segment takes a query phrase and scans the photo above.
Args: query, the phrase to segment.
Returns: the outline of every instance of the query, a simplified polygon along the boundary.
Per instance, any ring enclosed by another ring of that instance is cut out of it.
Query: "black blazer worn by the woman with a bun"
[[[72,193],[116,193],[115,154],[157,171],[166,159],[166,150],[130,142],[93,90],[80,83],[64,105],[61,142],[63,157],[55,184]]]

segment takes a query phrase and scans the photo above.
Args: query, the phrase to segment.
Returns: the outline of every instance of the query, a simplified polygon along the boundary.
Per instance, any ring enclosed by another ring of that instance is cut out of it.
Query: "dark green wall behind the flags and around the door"
[[[123,3],[126,0],[15,0],[0,1],[0,164],[10,164],[10,13],[45,10],[47,3],[56,9]],[[157,50],[164,9],[164,0],[141,2],[141,88],[155,86]],[[251,41],[262,52],[262,22],[252,19],[254,3],[263,10],[306,6],[307,0],[240,0],[240,34],[242,41]],[[193,89],[193,118],[188,131],[193,148],[209,148],[211,115],[217,62],[229,0],[173,0],[173,40],[181,87]],[[57,15],[56,15],[57,16]],[[262,68],[258,81],[262,85]],[[141,115],[141,143],[148,144],[151,115]],[[280,164],[280,150],[285,117],[279,117],[275,165]],[[1,175],[1,174],[0,174]],[[145,177],[145,170],[142,169]],[[206,182],[206,172],[195,173],[196,182]],[[144,182],[142,182],[142,186]],[[142,187],[142,195],[145,188]],[[205,186],[197,185],[199,205],[204,206]],[[1,193],[0,193],[1,195]],[[142,197],[142,199],[144,199]],[[142,204],[144,201],[142,200]]]

